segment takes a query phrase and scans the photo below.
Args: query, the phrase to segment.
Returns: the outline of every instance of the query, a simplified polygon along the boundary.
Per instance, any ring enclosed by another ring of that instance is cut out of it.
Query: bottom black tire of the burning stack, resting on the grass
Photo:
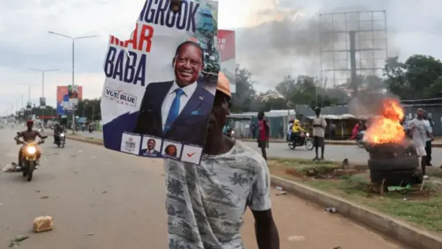
[[[423,182],[421,169],[409,170],[370,170],[372,183],[382,183],[385,179],[385,186],[399,186],[408,184],[419,184]]]

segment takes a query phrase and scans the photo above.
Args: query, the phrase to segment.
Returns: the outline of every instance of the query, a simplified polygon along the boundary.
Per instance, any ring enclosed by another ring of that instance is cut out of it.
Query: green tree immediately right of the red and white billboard
[[[251,111],[256,97],[255,84],[249,70],[236,65],[236,93],[232,95],[232,112]]]

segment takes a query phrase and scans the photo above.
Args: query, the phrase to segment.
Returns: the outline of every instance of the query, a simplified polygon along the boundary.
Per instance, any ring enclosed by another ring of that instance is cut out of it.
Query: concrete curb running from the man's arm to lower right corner
[[[334,207],[338,210],[339,214],[363,223],[392,239],[396,239],[414,248],[442,248],[442,237],[438,237],[425,230],[416,229],[403,221],[398,221],[380,212],[351,203],[338,196],[327,194],[307,185],[288,181],[278,176],[271,176],[271,185],[278,185],[291,194],[295,194],[309,201],[314,201],[324,207]]]

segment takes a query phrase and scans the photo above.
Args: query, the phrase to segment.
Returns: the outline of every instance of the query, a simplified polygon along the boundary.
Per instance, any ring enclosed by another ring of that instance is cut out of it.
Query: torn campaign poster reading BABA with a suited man
[[[109,37],[104,146],[199,164],[220,70],[218,4],[170,4],[147,0],[128,39]]]

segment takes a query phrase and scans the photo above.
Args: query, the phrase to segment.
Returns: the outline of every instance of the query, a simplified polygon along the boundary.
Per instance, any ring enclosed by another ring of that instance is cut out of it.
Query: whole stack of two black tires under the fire
[[[404,156],[388,159],[369,159],[368,169],[372,183],[386,186],[419,184],[423,173],[419,169],[419,156]]]

